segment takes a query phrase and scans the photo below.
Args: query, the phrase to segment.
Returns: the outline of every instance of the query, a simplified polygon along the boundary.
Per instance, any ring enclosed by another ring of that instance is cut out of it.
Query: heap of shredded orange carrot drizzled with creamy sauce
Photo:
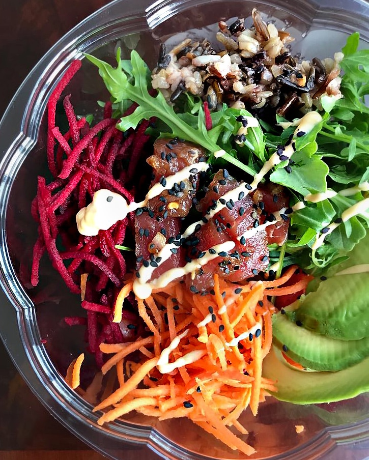
[[[102,374],[114,366],[116,371],[110,372],[109,389],[94,408],[106,410],[98,423],[133,410],[159,420],[187,417],[231,449],[254,453],[242,439],[248,432],[238,418],[244,410],[256,415],[269,392],[277,390],[275,382],[262,377],[275,312],[268,297],[299,290],[299,281],[285,286],[296,268],[288,268],[277,280],[242,286],[214,275],[214,295],[195,295],[174,281],[148,299],[137,298],[150,335],[130,343],[100,344],[102,353],[112,355]],[[117,297],[114,321],[121,319],[132,283],[127,280]],[[139,353],[130,358],[133,352]],[[68,383],[72,373],[79,376],[80,364],[76,360],[69,366]],[[119,387],[113,391],[117,377]]]

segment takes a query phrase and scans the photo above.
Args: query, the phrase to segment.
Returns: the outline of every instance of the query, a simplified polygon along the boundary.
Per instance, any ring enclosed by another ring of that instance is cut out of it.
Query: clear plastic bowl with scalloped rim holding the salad
[[[159,0],[154,4],[116,0],[81,22],[43,57],[0,123],[2,339],[45,407],[87,444],[116,460],[125,458],[127,443],[137,448],[146,444],[171,459],[241,459],[244,455],[229,450],[187,419],[158,422],[133,413],[100,427],[92,406],[66,385],[66,367],[84,343],[83,332],[68,328],[63,318],[79,312],[79,299],[68,292],[46,257],[39,287],[30,289],[29,283],[37,236],[31,200],[37,175],[46,171],[46,101],[71,61],[82,59],[82,52],[106,59],[113,57],[117,45],[127,56],[129,48],[135,47],[154,66],[161,41],[220,19],[248,17],[253,7],[284,23],[297,37],[294,50],[306,57],[332,55],[354,31],[369,41],[369,4],[364,0]],[[77,113],[96,111],[96,100],[107,97],[96,70],[86,60],[69,92]],[[258,450],[251,458],[346,459],[346,450],[339,446],[355,443],[364,447],[355,458],[363,458],[369,445],[368,408],[366,394],[338,404],[310,406],[268,398],[257,418],[247,411],[241,422],[250,430],[248,441]],[[304,425],[302,434],[296,434],[295,425]]]

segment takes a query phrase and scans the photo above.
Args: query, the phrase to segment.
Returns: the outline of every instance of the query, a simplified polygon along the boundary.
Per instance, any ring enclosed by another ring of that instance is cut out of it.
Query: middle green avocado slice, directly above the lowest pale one
[[[273,315],[273,343],[294,361],[314,370],[342,370],[369,356],[369,337],[333,339],[299,327],[281,313]]]

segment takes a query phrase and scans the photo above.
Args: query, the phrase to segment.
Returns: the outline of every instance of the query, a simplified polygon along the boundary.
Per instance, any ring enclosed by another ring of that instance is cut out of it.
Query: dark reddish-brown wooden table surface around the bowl
[[[108,0],[0,0],[0,118],[44,53]],[[0,459],[102,460],[56,421],[24,383],[0,340]],[[148,449],[127,460],[158,459]]]

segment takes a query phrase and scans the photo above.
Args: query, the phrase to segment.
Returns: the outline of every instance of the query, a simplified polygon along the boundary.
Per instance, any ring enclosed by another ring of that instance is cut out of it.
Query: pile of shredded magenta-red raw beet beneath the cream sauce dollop
[[[53,180],[46,184],[45,178],[38,178],[32,203],[39,236],[33,249],[31,283],[36,286],[39,282],[40,260],[45,252],[72,293],[81,293],[81,275],[89,274],[81,299],[87,318],[67,317],[65,322],[69,326],[87,326],[89,351],[102,366],[101,342],[132,340],[133,334],[141,330],[133,309],[123,312],[123,318],[136,326],[131,328],[130,336],[120,325],[112,323],[113,305],[126,274],[126,260],[116,245],[122,245],[126,236],[132,235],[133,221],[132,216],[127,216],[97,236],[83,237],[77,231],[75,216],[101,188],[122,194],[128,202],[134,199],[132,178],[139,163],[148,156],[149,136],[145,131],[153,120],[122,133],[116,128],[118,120],[112,118],[111,103],[107,102],[103,119],[90,127],[86,119],[76,116],[68,95],[63,99],[63,107],[69,130],[63,134],[55,125],[56,104],[80,66],[80,61],[70,65],[47,105],[47,160]],[[134,108],[136,104],[127,114]],[[129,299],[127,305],[133,305]]]

